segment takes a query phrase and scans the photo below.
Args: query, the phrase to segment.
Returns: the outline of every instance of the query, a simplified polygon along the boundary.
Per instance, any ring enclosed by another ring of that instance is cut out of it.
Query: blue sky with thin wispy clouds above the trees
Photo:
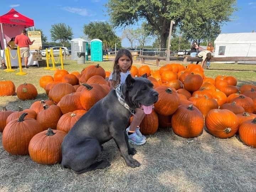
[[[48,2],[46,4],[45,2]],[[35,27],[41,28],[50,40],[49,30],[54,23],[64,22],[74,33],[74,38],[84,36],[82,28],[91,21],[109,21],[104,4],[107,0],[52,0],[52,1],[19,1],[1,0],[0,15],[5,14],[12,7],[23,15],[34,20]],[[238,0],[239,11],[233,15],[233,21],[225,23],[222,33],[239,33],[256,31],[256,0]],[[136,28],[137,26],[133,26]],[[122,29],[116,29],[121,36]],[[148,44],[152,44],[153,40]],[[124,39],[123,47],[129,42]]]

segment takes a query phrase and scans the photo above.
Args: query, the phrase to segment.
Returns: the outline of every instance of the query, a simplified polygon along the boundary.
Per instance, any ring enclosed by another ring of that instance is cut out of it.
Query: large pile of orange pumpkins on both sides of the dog
[[[140,124],[143,134],[154,134],[160,126],[172,127],[175,134],[192,138],[202,134],[205,124],[207,132],[215,137],[229,138],[239,133],[242,142],[256,147],[255,85],[242,85],[238,89],[234,77],[212,79],[204,75],[200,65],[194,64],[186,68],[167,64],[159,70],[151,70],[148,65],[140,68],[133,65],[130,72],[132,76],[148,74],[159,92],[153,112]],[[36,101],[26,110],[19,107],[14,112],[4,108],[0,112],[4,149],[14,155],[30,154],[40,164],[60,162],[65,134],[108,94],[109,75],[110,71],[101,66],[90,65],[81,73],[57,70],[53,77],[42,76],[39,84],[49,100]],[[14,92],[12,89],[11,94]],[[26,99],[31,95],[27,93],[30,90],[22,92]]]

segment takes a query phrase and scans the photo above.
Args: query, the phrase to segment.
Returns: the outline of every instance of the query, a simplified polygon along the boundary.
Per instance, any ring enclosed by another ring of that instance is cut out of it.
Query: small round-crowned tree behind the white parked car
[[[70,26],[66,26],[65,23],[56,23],[52,25],[50,29],[51,37],[53,41],[59,41],[64,47],[65,42],[71,40],[73,32]]]

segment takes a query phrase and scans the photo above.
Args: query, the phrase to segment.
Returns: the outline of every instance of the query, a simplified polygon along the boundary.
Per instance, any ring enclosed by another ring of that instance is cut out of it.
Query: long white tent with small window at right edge
[[[256,33],[219,34],[214,41],[214,57],[256,57]]]

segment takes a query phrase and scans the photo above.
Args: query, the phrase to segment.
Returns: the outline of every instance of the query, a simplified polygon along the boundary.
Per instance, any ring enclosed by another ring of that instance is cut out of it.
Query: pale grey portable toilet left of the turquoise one
[[[71,60],[78,60],[78,53],[85,55],[85,60],[88,60],[88,42],[85,39],[76,38],[71,40]]]

